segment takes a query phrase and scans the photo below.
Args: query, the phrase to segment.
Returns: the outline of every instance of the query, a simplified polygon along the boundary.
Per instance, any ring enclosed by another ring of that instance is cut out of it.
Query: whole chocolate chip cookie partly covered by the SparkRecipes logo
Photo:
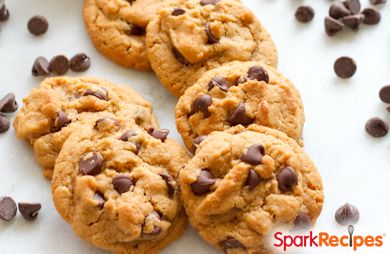
[[[311,227],[324,202],[321,177],[302,148],[258,125],[210,134],[179,183],[191,225],[225,253],[273,253],[271,231]]]

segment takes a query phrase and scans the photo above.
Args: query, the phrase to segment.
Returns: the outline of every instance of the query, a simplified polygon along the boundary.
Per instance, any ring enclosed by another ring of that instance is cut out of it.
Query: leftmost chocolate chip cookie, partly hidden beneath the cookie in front
[[[123,115],[148,129],[158,128],[150,103],[129,87],[95,78],[49,78],[24,99],[16,115],[16,136],[34,145],[38,163],[51,178],[62,144],[81,122]]]

